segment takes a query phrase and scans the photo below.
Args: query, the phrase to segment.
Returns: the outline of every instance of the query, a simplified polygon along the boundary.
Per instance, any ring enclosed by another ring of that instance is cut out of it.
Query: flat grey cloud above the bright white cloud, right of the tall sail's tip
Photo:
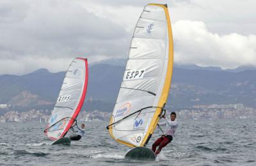
[[[173,22],[179,20],[202,21],[209,31],[218,34],[239,33],[255,34],[256,1],[233,1],[221,2],[194,0],[191,3],[169,6]]]

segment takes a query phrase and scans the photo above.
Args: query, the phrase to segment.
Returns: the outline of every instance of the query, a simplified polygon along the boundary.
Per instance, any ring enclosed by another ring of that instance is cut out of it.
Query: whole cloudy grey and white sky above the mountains
[[[127,58],[145,4],[167,3],[175,64],[256,66],[255,0],[1,0],[0,74]]]

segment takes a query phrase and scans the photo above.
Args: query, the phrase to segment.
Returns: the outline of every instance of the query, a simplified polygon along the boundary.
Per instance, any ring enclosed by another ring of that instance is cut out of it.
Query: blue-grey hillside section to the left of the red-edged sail
[[[22,76],[1,75],[0,103],[24,106],[52,103],[56,100],[64,75],[64,72],[50,73],[46,69]]]

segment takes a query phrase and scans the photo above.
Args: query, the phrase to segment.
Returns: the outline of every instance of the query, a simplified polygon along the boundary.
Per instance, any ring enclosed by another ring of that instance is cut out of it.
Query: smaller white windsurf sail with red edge
[[[45,128],[45,135],[56,140],[64,137],[68,130],[76,125],[86,96],[88,83],[87,59],[77,57],[68,66],[60,94],[57,98],[51,118]]]

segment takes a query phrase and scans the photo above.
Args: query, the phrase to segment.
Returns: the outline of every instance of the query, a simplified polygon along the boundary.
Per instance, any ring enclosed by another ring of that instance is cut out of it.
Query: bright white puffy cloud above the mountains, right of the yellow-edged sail
[[[175,63],[237,68],[256,66],[256,35],[211,33],[204,22],[173,24]]]

